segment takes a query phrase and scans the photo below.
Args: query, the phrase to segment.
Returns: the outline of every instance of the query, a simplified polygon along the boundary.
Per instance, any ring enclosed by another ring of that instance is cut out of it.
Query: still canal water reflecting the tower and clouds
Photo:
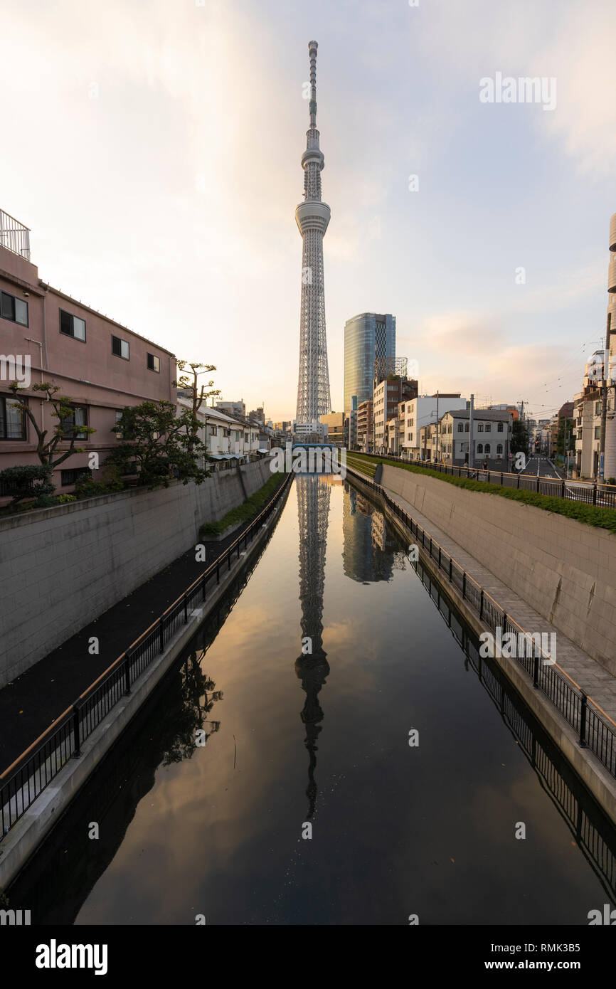
[[[298,477],[11,906],[33,924],[585,925],[614,905],[614,830],[403,550],[363,494]]]

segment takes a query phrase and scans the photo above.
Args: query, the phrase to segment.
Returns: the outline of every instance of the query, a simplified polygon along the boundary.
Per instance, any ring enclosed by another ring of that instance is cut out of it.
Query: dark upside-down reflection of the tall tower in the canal
[[[302,721],[306,725],[305,745],[309,755],[306,791],[309,819],[314,814],[316,804],[314,779],[316,740],[323,719],[323,712],[318,703],[318,692],[329,674],[329,664],[323,650],[321,619],[331,488],[328,480],[318,474],[300,474],[296,477],[296,491],[300,517],[300,600],[303,640],[302,655],[296,660],[296,674],[302,680],[302,689],[306,690]]]

